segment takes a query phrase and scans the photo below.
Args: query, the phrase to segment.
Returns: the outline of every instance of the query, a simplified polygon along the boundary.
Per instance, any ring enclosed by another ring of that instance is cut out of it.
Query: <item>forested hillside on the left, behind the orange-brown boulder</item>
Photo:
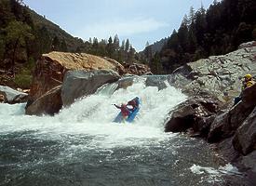
[[[50,51],[85,52],[133,62],[136,51],[117,35],[83,41],[38,15],[22,0],[0,1],[0,85],[28,88],[35,60]]]

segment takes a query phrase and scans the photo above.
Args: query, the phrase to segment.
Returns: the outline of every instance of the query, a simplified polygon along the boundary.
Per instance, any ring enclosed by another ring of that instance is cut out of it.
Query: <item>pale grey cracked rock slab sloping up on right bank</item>
[[[206,91],[222,100],[223,92],[233,100],[241,91],[241,77],[256,75],[256,42],[240,46],[222,56],[190,62],[174,71],[172,83],[185,93],[195,95]]]

